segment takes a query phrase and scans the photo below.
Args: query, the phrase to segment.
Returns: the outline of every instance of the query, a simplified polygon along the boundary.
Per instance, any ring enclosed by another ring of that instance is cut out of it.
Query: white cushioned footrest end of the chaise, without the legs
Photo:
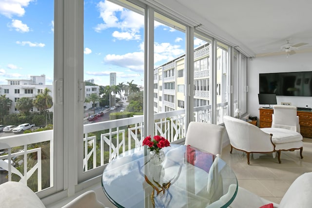
[[[280,128],[261,128],[263,132],[272,133],[272,142],[274,144],[282,144],[288,142],[296,142],[302,140],[302,135],[288,129]]]

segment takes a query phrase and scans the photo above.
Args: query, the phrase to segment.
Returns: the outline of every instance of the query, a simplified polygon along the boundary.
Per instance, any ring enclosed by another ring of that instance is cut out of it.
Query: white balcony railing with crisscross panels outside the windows
[[[227,114],[227,102],[218,104],[216,113],[217,122],[221,123],[222,115]],[[154,114],[154,135],[170,142],[184,138],[185,115],[185,109]],[[195,121],[211,123],[211,106],[194,108],[194,116]],[[85,124],[84,171],[103,166],[120,153],[141,146],[145,137],[143,122],[143,115],[138,115]],[[0,168],[7,171],[7,180],[29,183],[34,191],[53,186],[53,130],[1,137],[0,152]]]

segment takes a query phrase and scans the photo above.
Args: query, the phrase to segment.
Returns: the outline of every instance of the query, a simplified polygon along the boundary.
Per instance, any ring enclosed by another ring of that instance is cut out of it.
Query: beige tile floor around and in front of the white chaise
[[[281,164],[272,153],[254,153],[248,165],[246,153],[233,150],[230,154],[230,150],[230,145],[224,147],[221,158],[234,170],[238,185],[278,204],[299,175],[312,172],[312,139],[309,138],[303,138],[303,159],[299,150],[282,151]]]

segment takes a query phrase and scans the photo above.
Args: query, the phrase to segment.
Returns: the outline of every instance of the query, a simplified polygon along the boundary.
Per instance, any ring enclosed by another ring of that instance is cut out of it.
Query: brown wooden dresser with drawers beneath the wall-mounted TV
[[[259,127],[271,127],[273,109],[259,109]],[[312,111],[300,110],[297,111],[299,116],[300,133],[303,137],[312,138]]]

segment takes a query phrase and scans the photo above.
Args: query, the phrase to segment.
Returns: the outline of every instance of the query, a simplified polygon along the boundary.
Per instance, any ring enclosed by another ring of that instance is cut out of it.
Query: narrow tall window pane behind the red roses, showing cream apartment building
[[[154,132],[175,141],[185,133],[186,26],[154,14]]]

